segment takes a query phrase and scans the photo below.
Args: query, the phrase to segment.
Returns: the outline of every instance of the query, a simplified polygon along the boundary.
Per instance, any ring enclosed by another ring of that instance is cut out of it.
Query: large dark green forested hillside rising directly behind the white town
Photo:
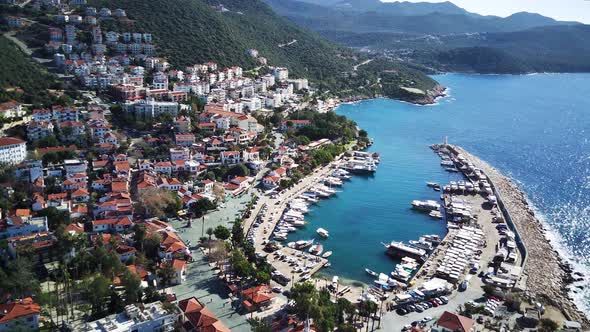
[[[218,11],[216,0],[91,0],[96,7],[123,8],[132,25],[113,24],[112,28],[151,32],[160,55],[175,66],[216,61],[222,66],[241,65],[246,69],[257,64],[245,55],[255,48],[271,65],[287,66],[291,76],[307,77],[321,91],[341,96],[371,95],[366,79],[376,80],[379,71],[353,66],[364,60],[344,47],[328,42],[276,15],[259,0],[227,0],[227,11]],[[292,44],[280,47],[280,44]],[[413,78],[420,89],[436,84],[424,74],[388,62],[393,68]],[[398,82],[392,81],[392,84]],[[401,84],[401,83],[399,83]],[[392,98],[412,101],[412,96],[388,94]],[[416,96],[416,99],[422,99]]]

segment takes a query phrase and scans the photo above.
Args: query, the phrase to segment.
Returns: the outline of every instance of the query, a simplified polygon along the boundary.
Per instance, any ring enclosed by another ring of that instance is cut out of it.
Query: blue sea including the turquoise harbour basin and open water
[[[434,105],[373,99],[336,109],[368,131],[381,163],[374,175],[354,176],[313,206],[309,224],[289,241],[317,238],[322,227],[330,232],[324,251],[333,251],[326,277],[370,284],[365,268],[389,274],[397,262],[383,243],[446,233],[441,220],[413,211],[411,202],[440,196],[426,182],[460,176],[446,172],[429,148],[447,139],[510,176],[556,248],[590,278],[590,74],[434,78],[448,88]],[[577,291],[590,312],[590,289]]]

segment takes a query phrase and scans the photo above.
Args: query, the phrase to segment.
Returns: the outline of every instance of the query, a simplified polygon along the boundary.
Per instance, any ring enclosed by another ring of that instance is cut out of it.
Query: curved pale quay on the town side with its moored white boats
[[[378,163],[377,154],[352,151],[316,170],[293,188],[270,191],[262,196],[259,207],[246,220],[247,239],[275,268],[274,282],[288,290],[296,282],[311,281],[318,287],[329,285],[334,296],[353,302],[359,299],[362,288],[341,283],[338,276],[332,276],[329,283],[327,277],[316,276],[331,265],[329,259],[333,252],[322,244],[330,237],[330,232],[321,224],[310,224],[305,218],[315,204],[344,190],[346,182],[355,174],[374,173]],[[299,231],[303,229],[308,233],[314,230],[313,235],[301,237]]]

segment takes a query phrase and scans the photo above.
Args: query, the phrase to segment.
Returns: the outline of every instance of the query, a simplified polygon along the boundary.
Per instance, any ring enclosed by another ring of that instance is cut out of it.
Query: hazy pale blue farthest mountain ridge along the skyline
[[[311,1],[311,0],[308,0]],[[316,31],[406,32],[450,34],[508,32],[539,26],[572,25],[539,14],[517,13],[506,18],[469,13],[450,2],[382,3],[344,0],[321,6],[298,0],[266,0],[292,21]]]

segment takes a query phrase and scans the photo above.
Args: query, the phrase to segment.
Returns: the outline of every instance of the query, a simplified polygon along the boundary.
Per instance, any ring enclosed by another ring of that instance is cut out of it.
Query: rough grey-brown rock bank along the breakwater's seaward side
[[[527,262],[523,274],[526,277],[525,295],[531,300],[540,300],[559,309],[566,318],[590,326],[584,312],[580,311],[568,295],[570,286],[582,276],[574,273],[545,237],[545,229],[528,204],[525,194],[508,177],[485,161],[457,146],[449,146],[470,160],[492,181],[501,196],[506,210],[514,221],[527,249]]]

